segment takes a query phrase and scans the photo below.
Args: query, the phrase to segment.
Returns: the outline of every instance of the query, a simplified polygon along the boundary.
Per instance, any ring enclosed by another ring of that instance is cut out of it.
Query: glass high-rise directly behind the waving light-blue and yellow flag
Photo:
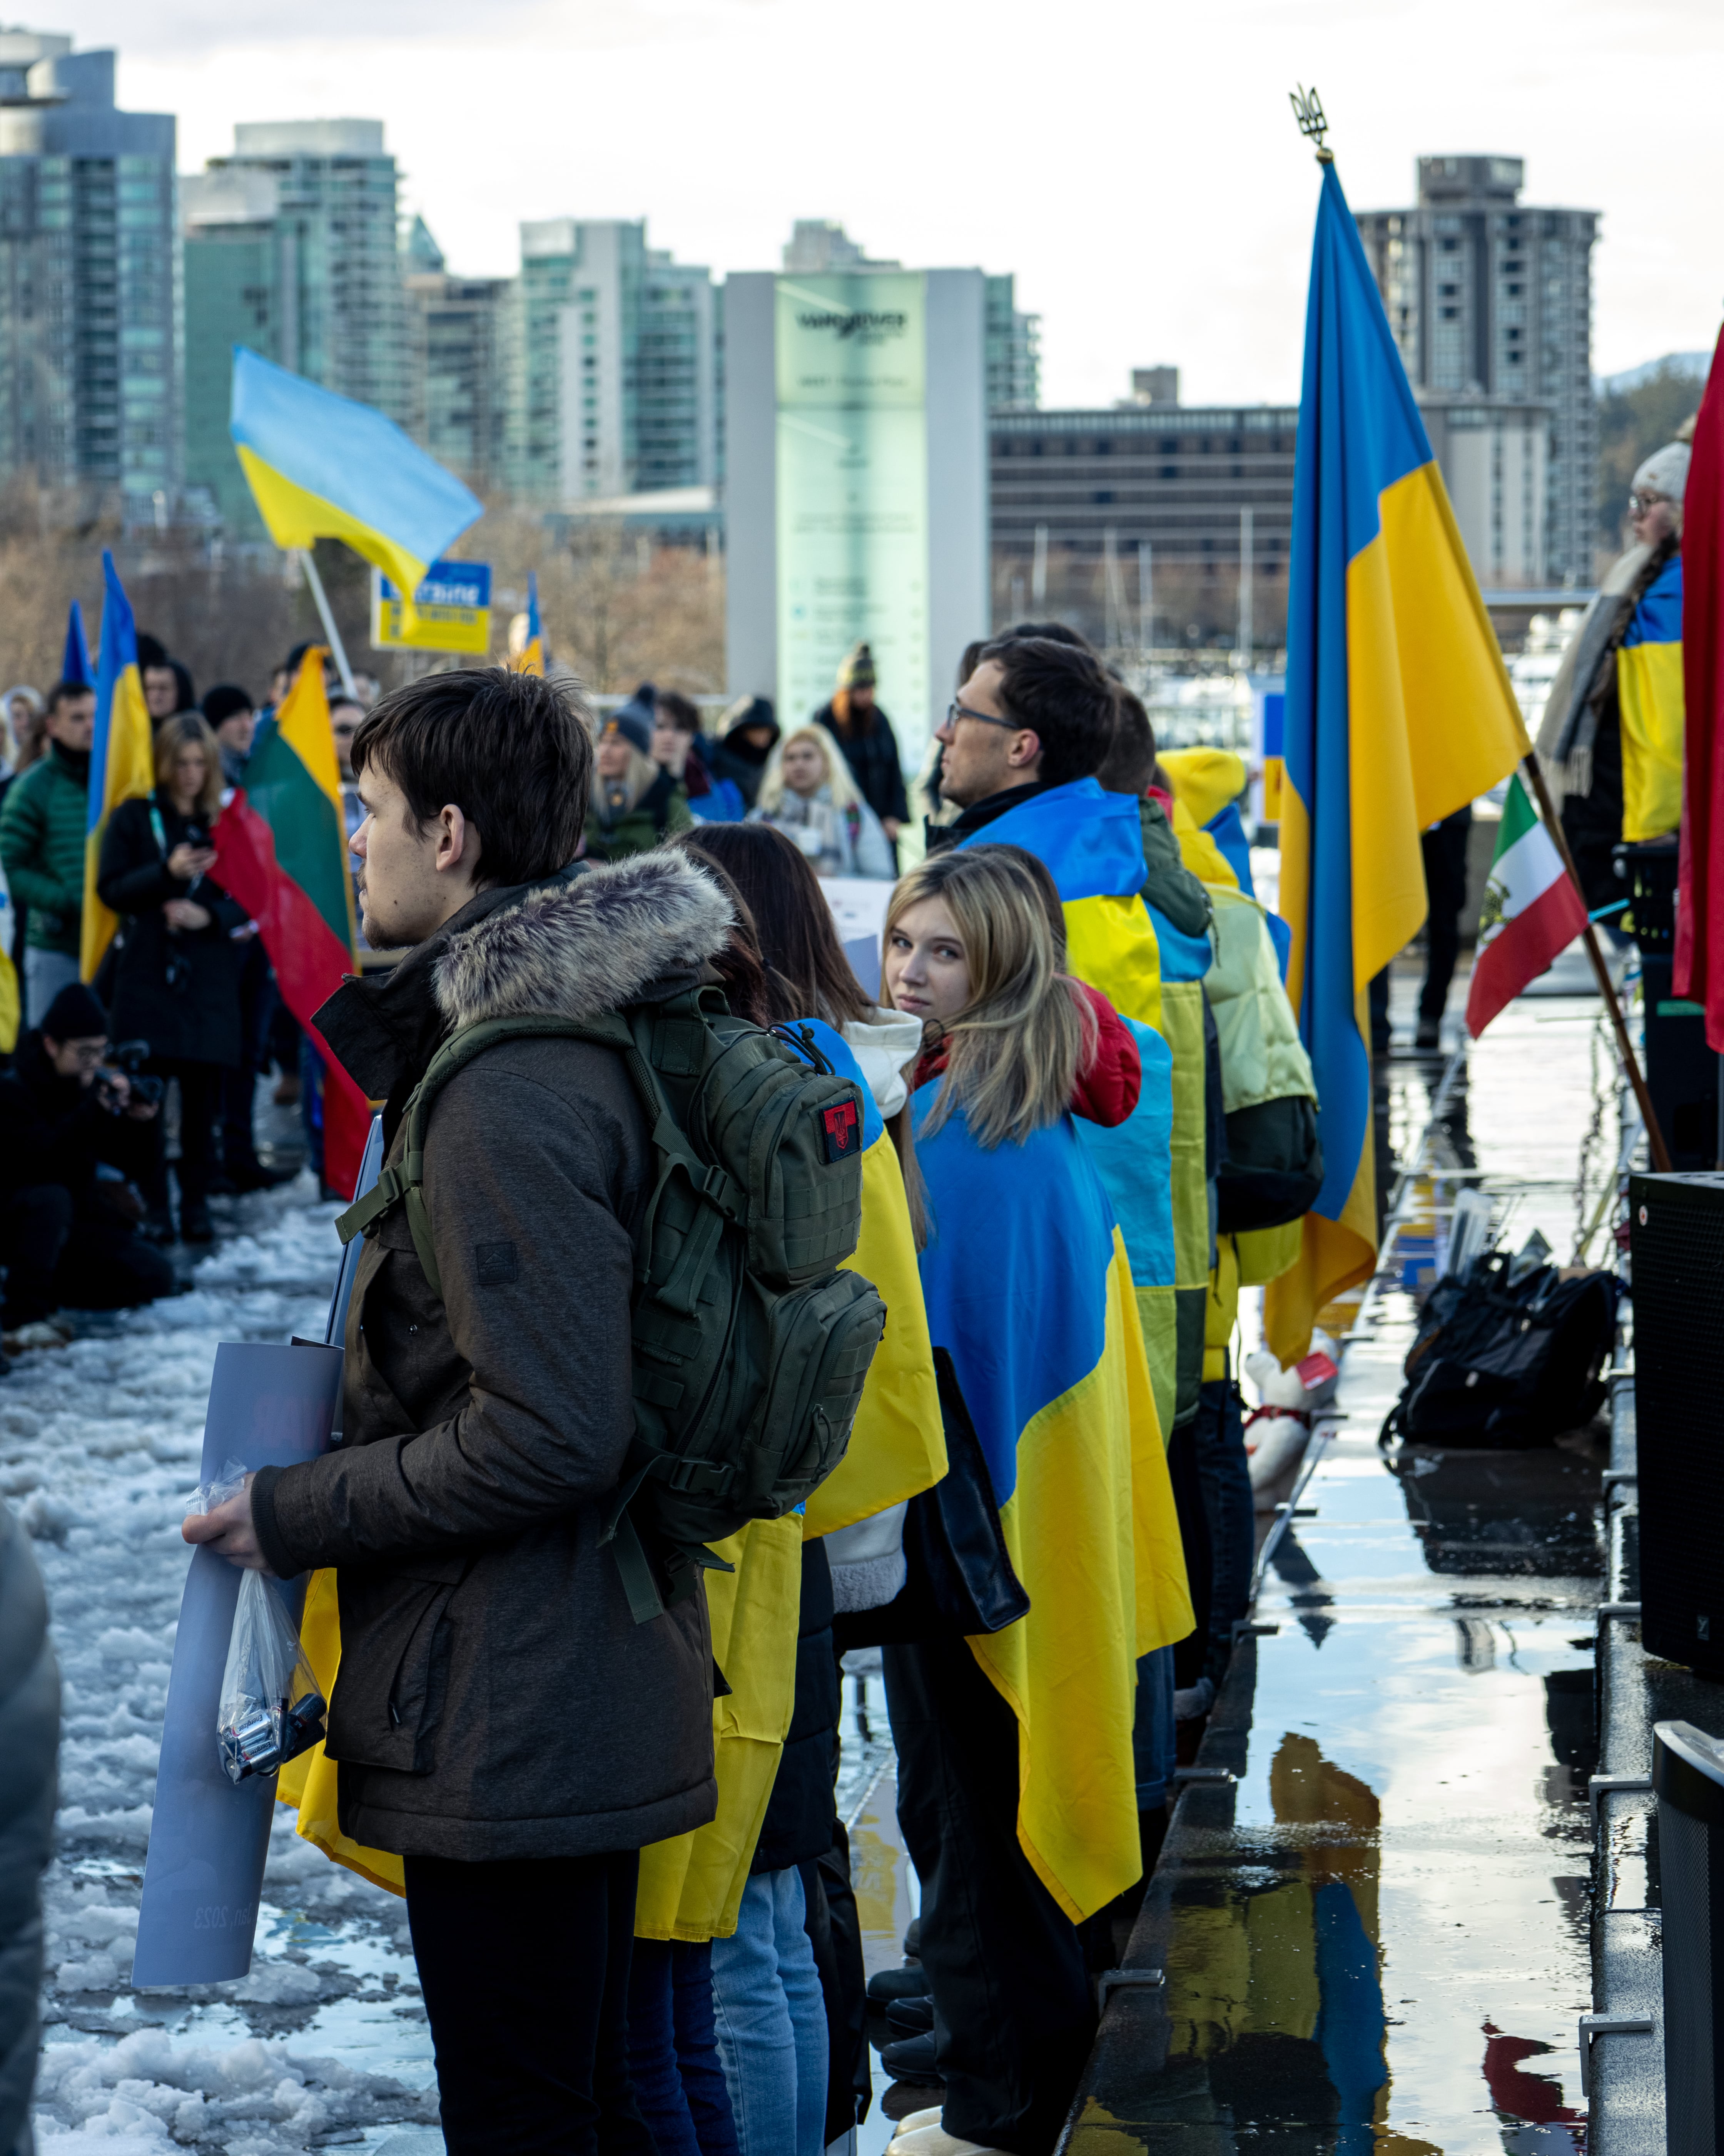
[[[228,440],[231,347],[412,425],[414,354],[381,121],[259,121],[181,179],[185,479],[231,528],[254,511]]]

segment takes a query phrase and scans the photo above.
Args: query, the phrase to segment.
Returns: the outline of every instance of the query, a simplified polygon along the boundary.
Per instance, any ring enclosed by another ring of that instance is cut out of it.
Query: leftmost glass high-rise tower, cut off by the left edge
[[[181,472],[175,121],[114,108],[114,54],[0,30],[0,470],[119,489]]]

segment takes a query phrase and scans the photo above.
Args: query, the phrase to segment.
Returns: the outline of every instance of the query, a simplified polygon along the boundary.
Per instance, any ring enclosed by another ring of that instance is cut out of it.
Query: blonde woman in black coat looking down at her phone
[[[213,880],[222,750],[200,711],[155,729],[155,793],[108,817],[97,895],[121,914],[108,1033],[149,1041],[155,1078],[179,1080],[179,1233],[211,1242],[209,1177],[222,1074],[239,1063],[239,951],[246,908]],[[147,1231],[172,1240],[168,1171],[157,1158]]]

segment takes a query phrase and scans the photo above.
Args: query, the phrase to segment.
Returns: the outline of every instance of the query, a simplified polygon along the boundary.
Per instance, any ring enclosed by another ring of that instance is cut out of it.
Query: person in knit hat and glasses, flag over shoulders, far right
[[[1539,727],[1588,908],[1627,897],[1614,847],[1672,845],[1681,824],[1687,459],[1685,440],[1666,442],[1633,474],[1633,545],[1565,651]]]

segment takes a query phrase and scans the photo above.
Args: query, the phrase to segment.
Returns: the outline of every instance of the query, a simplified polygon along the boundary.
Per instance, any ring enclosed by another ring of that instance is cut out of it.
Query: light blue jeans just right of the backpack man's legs
[[[823,2156],[825,1999],[795,1865],[756,1871],[713,1940],[718,2057],[741,2156]]]

